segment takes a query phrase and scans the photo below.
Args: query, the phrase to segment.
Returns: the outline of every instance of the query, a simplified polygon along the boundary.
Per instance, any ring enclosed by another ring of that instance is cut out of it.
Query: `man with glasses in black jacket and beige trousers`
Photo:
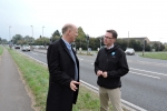
[[[114,111],[122,111],[120,78],[128,73],[129,68],[125,52],[114,43],[117,40],[115,30],[107,30],[104,37],[106,48],[99,50],[95,61],[95,73],[98,75],[100,111],[108,111],[111,101]]]

